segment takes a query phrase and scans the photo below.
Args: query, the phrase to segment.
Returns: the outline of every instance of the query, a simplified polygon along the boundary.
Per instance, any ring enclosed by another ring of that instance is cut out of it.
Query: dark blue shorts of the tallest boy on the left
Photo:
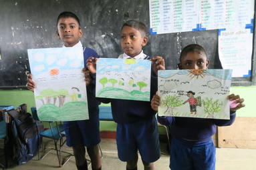
[[[63,127],[67,138],[66,142],[69,147],[74,147],[77,145],[91,147],[100,143],[100,123],[98,111],[90,113],[89,115],[89,120],[63,122]]]

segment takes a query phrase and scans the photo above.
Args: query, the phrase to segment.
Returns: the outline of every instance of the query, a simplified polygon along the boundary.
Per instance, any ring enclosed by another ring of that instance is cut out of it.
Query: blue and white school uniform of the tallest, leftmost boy
[[[82,43],[77,43],[74,47],[82,47]],[[83,47],[84,51],[84,67],[89,57],[98,57],[93,49]],[[66,133],[67,145],[74,147],[76,145],[84,145],[91,147],[100,143],[100,123],[99,123],[99,107],[100,102],[95,97],[95,77],[92,77],[90,85],[86,87],[88,99],[89,120],[82,121],[65,121],[63,127]],[[84,82],[86,85],[86,82]],[[72,114],[72,113],[71,113]]]

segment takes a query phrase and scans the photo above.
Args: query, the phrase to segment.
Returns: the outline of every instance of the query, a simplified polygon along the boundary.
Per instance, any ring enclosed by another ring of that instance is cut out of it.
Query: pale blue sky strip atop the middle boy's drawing
[[[135,60],[134,64],[125,63],[125,59],[101,58],[97,61],[97,74],[106,71],[139,71],[148,72],[151,69],[151,62],[144,59]]]

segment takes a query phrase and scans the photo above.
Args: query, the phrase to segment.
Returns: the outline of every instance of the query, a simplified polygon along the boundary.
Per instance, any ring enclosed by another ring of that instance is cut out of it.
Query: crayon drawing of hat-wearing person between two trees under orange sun
[[[230,69],[158,71],[158,115],[230,119]]]

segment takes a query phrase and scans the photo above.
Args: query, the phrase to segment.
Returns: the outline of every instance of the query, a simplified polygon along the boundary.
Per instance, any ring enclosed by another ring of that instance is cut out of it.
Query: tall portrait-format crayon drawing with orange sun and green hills
[[[89,119],[81,47],[28,49],[29,65],[41,121]]]

